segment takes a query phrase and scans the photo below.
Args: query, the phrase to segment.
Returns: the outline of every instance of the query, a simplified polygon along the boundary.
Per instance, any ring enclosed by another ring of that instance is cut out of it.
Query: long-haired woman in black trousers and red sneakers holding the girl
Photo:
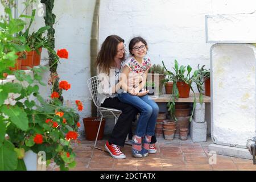
[[[118,100],[116,88],[118,88],[119,73],[123,61],[125,60],[125,40],[117,35],[108,36],[102,43],[101,50],[98,53],[96,65],[99,71],[99,79],[101,86],[98,88],[99,101],[102,107],[112,107],[122,111],[119,115],[117,123],[114,126],[112,135],[105,144],[106,150],[115,159],[125,159],[119,146],[124,146],[127,134],[131,129],[131,123],[136,118],[139,111],[129,105]],[[127,83],[128,85],[138,86],[139,80],[133,79]],[[155,141],[155,137],[152,141]],[[155,153],[155,145],[151,145],[149,153]]]

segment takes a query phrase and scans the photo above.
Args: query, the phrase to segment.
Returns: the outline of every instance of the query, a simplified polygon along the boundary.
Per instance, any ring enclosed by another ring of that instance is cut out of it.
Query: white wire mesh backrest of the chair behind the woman
[[[99,83],[100,83],[100,80],[98,79],[98,76],[91,77],[87,81],[90,95],[92,96],[92,100],[97,107],[100,106],[100,101],[98,101],[98,84]]]

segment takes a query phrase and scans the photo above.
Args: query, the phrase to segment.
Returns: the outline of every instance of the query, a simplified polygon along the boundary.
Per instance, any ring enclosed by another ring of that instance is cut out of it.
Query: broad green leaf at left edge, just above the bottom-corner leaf
[[[10,117],[11,122],[13,122],[19,129],[26,131],[28,129],[28,118],[27,114],[20,109],[18,106],[3,105],[1,107],[3,114]]]

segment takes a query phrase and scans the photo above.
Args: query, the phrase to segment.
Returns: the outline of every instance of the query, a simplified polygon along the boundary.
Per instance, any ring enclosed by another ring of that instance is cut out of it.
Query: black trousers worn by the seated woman
[[[119,115],[117,123],[114,126],[109,142],[118,146],[124,146],[127,134],[131,130],[131,123],[135,120],[139,110],[134,106],[119,101],[117,97],[106,98],[101,106],[112,107],[122,111],[122,114]],[[156,137],[154,135],[151,138],[151,143],[155,142]]]

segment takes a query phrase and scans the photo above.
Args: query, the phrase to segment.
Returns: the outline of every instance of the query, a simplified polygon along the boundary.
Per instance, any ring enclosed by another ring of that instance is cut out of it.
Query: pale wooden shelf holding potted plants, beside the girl
[[[155,102],[169,102],[172,99],[171,94],[163,94],[160,96],[150,96]],[[179,98],[176,102],[194,102],[193,94],[188,98]],[[196,93],[196,102],[199,102],[199,93]],[[210,97],[203,95],[203,102],[210,103]]]

